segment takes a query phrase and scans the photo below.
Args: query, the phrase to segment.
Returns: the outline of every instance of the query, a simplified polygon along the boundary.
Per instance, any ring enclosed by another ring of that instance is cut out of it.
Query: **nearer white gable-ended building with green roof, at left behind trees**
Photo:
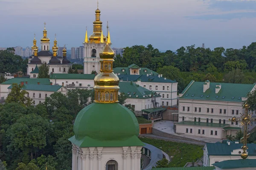
[[[24,82],[21,82],[21,85],[23,86],[21,90],[25,90],[29,93],[27,96],[32,99],[33,105],[45,102],[45,98],[55,92],[67,94],[67,88],[64,88],[61,85],[40,85],[40,82],[38,82],[38,84],[24,84]],[[12,85],[9,86],[8,89],[9,92],[11,92]]]

